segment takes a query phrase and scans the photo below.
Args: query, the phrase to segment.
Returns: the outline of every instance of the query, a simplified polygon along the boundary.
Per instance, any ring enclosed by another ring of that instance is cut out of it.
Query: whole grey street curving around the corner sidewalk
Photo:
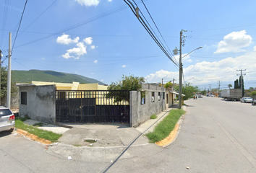
[[[174,143],[151,155],[137,149],[139,156],[113,164],[53,156],[34,141],[0,133],[0,172],[256,172],[255,106],[212,97],[185,104]]]

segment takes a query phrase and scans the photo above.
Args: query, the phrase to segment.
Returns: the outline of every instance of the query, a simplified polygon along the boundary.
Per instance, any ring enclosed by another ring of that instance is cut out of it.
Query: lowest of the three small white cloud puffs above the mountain
[[[65,53],[64,55],[62,55],[63,58],[75,58],[75,59],[79,59],[80,56],[84,55],[85,53],[87,53],[86,51],[86,46],[84,43],[77,43],[77,48],[72,48],[67,50],[67,53]],[[70,54],[74,54],[75,56],[70,56]]]

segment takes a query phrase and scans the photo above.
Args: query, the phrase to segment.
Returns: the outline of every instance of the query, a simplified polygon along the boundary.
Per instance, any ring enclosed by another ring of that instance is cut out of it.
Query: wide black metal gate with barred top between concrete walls
[[[56,91],[56,122],[129,123],[129,91]]]

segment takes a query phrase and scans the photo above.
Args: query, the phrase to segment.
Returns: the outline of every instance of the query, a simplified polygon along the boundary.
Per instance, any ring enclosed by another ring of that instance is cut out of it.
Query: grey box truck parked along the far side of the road
[[[223,89],[221,97],[227,100],[240,100],[242,98],[242,89]]]

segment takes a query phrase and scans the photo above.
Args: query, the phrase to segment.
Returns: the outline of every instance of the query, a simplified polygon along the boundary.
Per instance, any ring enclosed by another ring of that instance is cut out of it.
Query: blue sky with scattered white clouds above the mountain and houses
[[[245,89],[256,87],[255,0],[130,1],[169,57],[125,1],[1,0],[2,66],[8,64],[12,32],[12,70],[79,74],[105,84],[131,74],[148,83],[179,83],[179,54],[173,50],[187,30],[183,83],[227,89],[242,70]]]

